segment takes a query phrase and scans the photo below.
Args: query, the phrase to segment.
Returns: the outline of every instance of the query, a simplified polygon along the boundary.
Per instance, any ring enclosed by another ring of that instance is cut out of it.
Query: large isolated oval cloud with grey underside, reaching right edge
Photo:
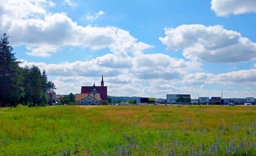
[[[191,60],[205,62],[243,62],[256,59],[256,43],[223,26],[181,25],[166,28],[160,41],[169,50],[183,50]]]

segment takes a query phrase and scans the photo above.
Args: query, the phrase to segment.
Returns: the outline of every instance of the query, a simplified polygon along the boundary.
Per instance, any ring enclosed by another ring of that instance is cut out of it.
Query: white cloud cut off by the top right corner
[[[211,10],[217,16],[238,15],[249,12],[256,13],[255,0],[211,0]]]

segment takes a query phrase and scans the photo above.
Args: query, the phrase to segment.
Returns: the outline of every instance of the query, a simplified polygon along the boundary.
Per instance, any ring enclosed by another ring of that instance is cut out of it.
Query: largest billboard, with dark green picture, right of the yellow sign
[[[167,103],[190,103],[190,94],[167,94]]]

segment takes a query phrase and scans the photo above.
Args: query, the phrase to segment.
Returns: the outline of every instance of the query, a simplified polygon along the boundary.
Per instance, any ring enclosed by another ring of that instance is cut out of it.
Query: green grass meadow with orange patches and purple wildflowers
[[[256,107],[0,108],[0,155],[255,155]]]

